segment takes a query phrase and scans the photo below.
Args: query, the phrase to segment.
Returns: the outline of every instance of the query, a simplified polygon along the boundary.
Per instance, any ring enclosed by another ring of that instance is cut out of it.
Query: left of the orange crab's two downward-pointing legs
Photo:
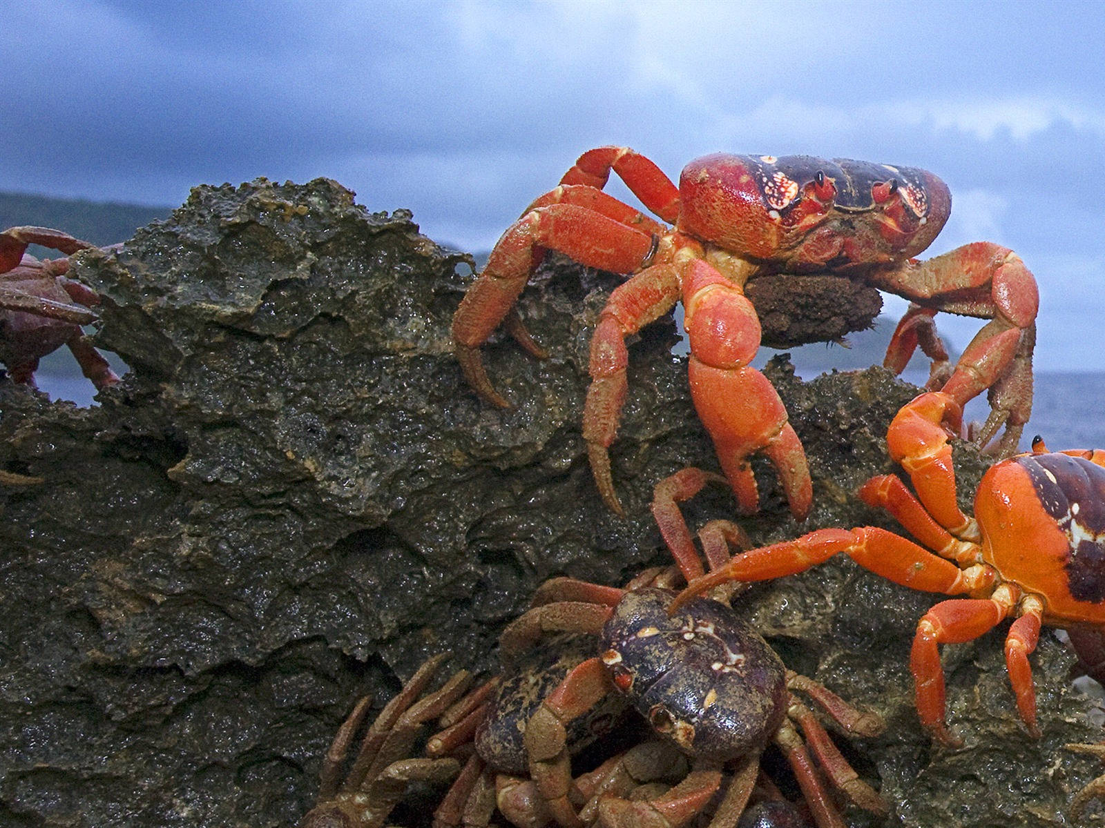
[[[972,641],[993,629],[1015,605],[1015,597],[1010,599],[1009,592],[1003,585],[989,598],[941,601],[917,624],[909,651],[917,714],[933,736],[946,745],[958,746],[962,743],[951,735],[944,721],[944,669],[940,667],[939,645]]]

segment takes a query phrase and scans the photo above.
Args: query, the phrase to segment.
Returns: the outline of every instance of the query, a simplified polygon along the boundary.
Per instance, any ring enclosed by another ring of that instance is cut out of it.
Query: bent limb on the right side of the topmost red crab
[[[1002,426],[999,452],[1017,450],[1032,412],[1032,348],[1040,294],[1020,256],[990,242],[976,242],[925,262],[911,261],[880,277],[878,287],[928,308],[990,319],[971,340],[945,383],[960,406],[991,389],[991,412],[979,435],[986,443]],[[892,350],[903,350],[903,338]],[[887,364],[903,353],[887,351]],[[907,358],[906,358],[907,359]]]

